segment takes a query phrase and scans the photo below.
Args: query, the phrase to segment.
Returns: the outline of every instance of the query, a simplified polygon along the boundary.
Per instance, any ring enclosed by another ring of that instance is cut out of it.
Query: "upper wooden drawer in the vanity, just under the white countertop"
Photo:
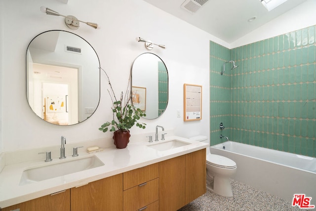
[[[159,177],[159,164],[152,164],[143,168],[123,173],[123,190],[142,184]]]

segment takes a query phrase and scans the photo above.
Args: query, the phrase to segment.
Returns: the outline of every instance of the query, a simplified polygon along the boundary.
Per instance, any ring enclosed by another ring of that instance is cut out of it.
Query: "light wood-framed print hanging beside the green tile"
[[[194,121],[202,119],[202,86],[184,84],[184,114],[183,120]]]

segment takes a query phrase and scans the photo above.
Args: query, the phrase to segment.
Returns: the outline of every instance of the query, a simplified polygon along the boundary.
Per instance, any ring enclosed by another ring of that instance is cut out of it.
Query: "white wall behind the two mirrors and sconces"
[[[78,30],[71,31],[65,26],[63,17],[41,13],[42,5],[83,21],[96,22],[102,28],[95,30],[80,23]],[[108,83],[103,73],[99,107],[92,117],[79,125],[51,125],[37,117],[29,107],[25,70],[27,46],[38,34],[56,29],[71,31],[94,47],[117,94],[126,88],[133,60],[139,54],[149,52],[143,43],[135,41],[135,37],[165,44],[166,49],[155,47],[150,52],[157,54],[168,69],[167,109],[158,119],[144,121],[147,123],[145,130],[135,127],[131,133],[154,133],[156,125],[161,125],[184,137],[209,136],[209,40],[225,46],[227,43],[143,0],[70,0],[68,4],[57,0],[1,0],[0,14],[4,20],[3,26],[0,25],[3,33],[0,49],[5,52],[0,58],[1,85],[5,88],[0,93],[3,151],[58,145],[61,135],[66,136],[68,143],[112,137],[111,132],[98,130],[112,118]],[[183,117],[177,118],[177,110],[183,111],[184,83],[203,86],[201,121],[184,123]]]

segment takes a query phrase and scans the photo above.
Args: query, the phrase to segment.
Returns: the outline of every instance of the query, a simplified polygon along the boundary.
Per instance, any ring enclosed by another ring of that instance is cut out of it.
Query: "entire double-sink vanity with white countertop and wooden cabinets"
[[[207,144],[178,136],[5,166],[2,211],[176,211],[205,193]]]

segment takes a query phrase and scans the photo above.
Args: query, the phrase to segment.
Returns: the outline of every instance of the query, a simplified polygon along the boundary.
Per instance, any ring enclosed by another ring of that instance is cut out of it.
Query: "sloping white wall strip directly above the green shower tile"
[[[316,0],[307,0],[290,11],[278,16],[274,20],[253,30],[235,42],[230,48],[262,41],[268,38],[293,32],[309,26],[316,25]]]

